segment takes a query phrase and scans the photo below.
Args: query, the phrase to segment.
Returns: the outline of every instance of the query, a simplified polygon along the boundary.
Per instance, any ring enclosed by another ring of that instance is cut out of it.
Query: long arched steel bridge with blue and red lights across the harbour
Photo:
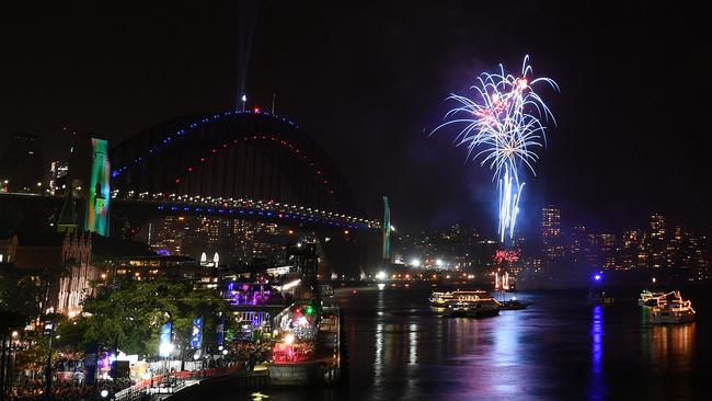
[[[100,216],[101,210],[92,209],[102,200],[107,219],[104,234],[130,239],[151,218],[216,216],[276,222],[324,236],[348,230],[349,247],[369,243],[372,253],[379,251],[380,221],[365,216],[337,164],[287,118],[259,111],[186,116],[107,149],[103,165],[78,169],[92,175],[79,182],[84,183],[83,197],[89,200],[87,216]],[[28,196],[22,198],[14,204],[25,205]],[[60,196],[31,198],[55,209],[62,202]],[[8,194],[0,203],[8,213],[15,206]],[[337,248],[337,242],[331,247]]]

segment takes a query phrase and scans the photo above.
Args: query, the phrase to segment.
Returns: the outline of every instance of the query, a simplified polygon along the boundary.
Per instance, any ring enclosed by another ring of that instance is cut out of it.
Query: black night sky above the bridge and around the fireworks
[[[371,216],[384,193],[407,230],[461,221],[494,237],[491,173],[464,163],[452,131],[428,133],[450,92],[467,93],[499,62],[516,72],[529,54],[535,75],[561,93],[542,93],[559,125],[527,180],[524,227],[548,203],[565,222],[599,230],[643,227],[653,211],[709,226],[708,10],[310,3],[264,2],[254,18],[228,1],[12,5],[0,16],[0,146],[30,131],[60,157],[64,126],[117,142],[165,119],[233,108],[246,60],[250,105],[268,108],[276,93],[277,114],[323,146]]]

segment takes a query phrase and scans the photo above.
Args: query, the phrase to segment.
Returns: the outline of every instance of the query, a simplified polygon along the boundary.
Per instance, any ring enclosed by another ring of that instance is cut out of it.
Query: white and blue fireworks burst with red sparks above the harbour
[[[492,181],[497,182],[499,191],[497,232],[503,242],[507,233],[510,239],[514,236],[519,214],[525,185],[520,170],[528,169],[536,175],[536,150],[543,148],[547,140],[542,119],[555,124],[535,87],[548,84],[559,91],[559,85],[549,78],[532,79],[532,73],[529,56],[524,58],[520,77],[505,73],[502,65],[499,73],[482,72],[470,88],[476,91],[475,96],[450,94],[448,100],[458,104],[445,115],[446,122],[433,130],[462,125],[455,146],[467,146],[468,160],[480,160],[480,165],[493,171]]]

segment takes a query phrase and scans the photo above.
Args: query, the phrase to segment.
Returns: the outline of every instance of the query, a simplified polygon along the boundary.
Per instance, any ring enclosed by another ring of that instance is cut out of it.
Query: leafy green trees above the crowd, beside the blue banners
[[[80,351],[92,344],[118,347],[127,354],[158,354],[158,332],[173,321],[174,343],[188,352],[193,319],[204,317],[204,339],[209,344],[215,332],[216,316],[227,310],[220,296],[208,289],[193,289],[191,283],[168,279],[123,279],[101,287],[94,298],[84,301],[85,316],[60,324],[64,345]],[[210,331],[211,330],[211,331]]]

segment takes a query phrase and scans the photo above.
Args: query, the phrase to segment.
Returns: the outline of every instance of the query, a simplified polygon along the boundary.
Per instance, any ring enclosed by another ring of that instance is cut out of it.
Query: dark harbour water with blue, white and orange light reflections
[[[712,302],[684,290],[694,323],[652,325],[636,289],[612,306],[585,290],[519,293],[526,310],[448,319],[429,288],[340,289],[348,382],[335,389],[265,389],[268,400],[687,400],[712,383]],[[244,394],[245,399],[255,396]],[[225,400],[234,400],[236,394]],[[237,399],[240,399],[238,397]]]

